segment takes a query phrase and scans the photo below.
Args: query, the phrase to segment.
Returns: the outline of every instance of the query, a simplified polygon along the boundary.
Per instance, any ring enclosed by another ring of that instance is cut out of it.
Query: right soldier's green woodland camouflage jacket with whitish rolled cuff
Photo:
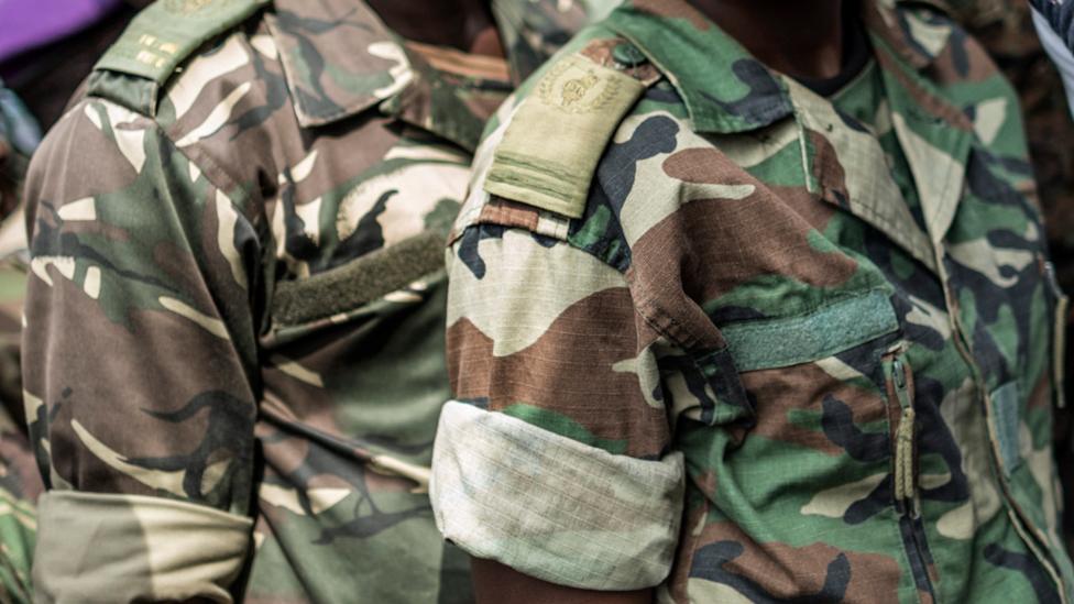
[[[450,238],[448,539],[661,603],[1071,601],[1017,97],[933,8],[862,14],[822,98],[631,0],[497,112]]]

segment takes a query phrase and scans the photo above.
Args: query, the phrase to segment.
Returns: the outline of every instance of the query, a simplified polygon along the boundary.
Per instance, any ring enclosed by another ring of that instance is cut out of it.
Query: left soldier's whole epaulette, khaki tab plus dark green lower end
[[[89,94],[143,114],[175,68],[205,42],[272,0],[157,0],[138,14],[94,66]],[[124,77],[125,76],[125,77]],[[129,81],[133,78],[133,81]],[[128,81],[119,81],[119,80]]]

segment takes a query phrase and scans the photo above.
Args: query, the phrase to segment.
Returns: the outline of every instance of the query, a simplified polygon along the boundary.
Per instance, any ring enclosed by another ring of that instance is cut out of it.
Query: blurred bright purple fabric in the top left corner
[[[0,0],[0,63],[92,25],[121,0]]]

